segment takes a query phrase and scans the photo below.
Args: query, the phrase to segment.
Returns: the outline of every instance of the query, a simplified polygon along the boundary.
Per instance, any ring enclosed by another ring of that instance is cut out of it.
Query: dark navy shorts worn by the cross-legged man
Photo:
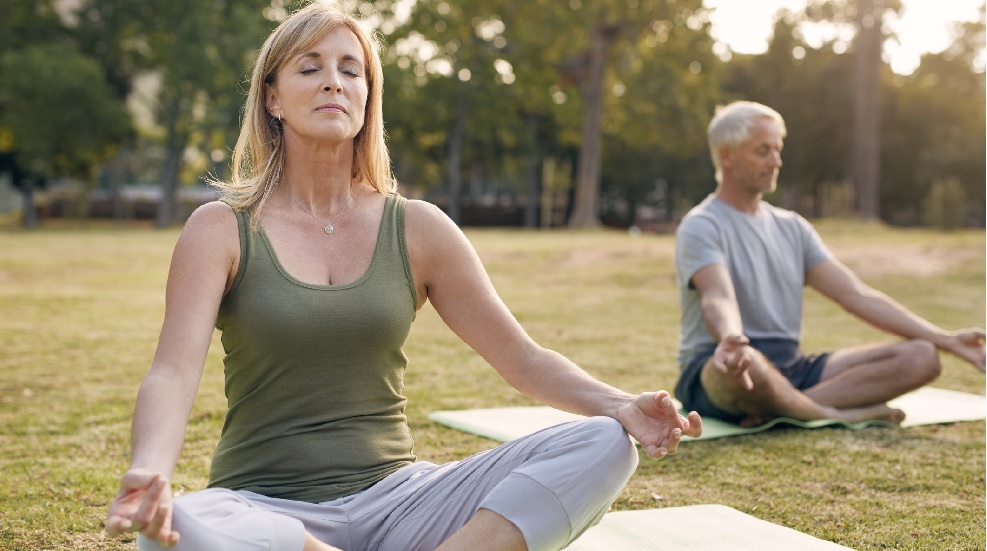
[[[822,370],[826,367],[829,352],[806,356],[799,349],[799,344],[787,339],[751,339],[750,345],[764,354],[778,371],[785,376],[792,386],[799,390],[816,386],[822,378]],[[693,356],[679,376],[675,385],[675,397],[682,402],[687,411],[697,411],[699,415],[716,417],[732,423],[739,422],[744,415],[728,413],[713,405],[700,381],[703,366],[713,356],[716,346],[711,346]]]

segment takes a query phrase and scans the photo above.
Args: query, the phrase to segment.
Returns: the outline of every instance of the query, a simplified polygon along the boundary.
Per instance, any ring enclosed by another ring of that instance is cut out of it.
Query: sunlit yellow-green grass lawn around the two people
[[[983,326],[984,232],[824,221],[861,276],[947,328]],[[676,379],[678,298],[671,236],[468,232],[508,306],[542,344],[631,391]],[[128,464],[133,400],[154,351],[177,230],[47,227],[0,232],[0,549],[132,549],[102,533]],[[806,348],[885,337],[807,293]],[[225,400],[210,352],[175,475],[206,482]],[[430,411],[532,402],[446,329],[430,307],[407,345],[408,415],[421,459],[495,445],[427,420]],[[936,386],[984,393],[944,360]],[[970,550],[985,542],[984,423],[905,430],[776,430],[682,446],[641,467],[617,509],[729,505],[859,550]]]

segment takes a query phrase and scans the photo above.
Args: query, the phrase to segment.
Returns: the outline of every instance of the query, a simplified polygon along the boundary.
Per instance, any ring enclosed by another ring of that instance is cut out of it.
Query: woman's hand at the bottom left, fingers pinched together
[[[120,479],[120,491],[106,518],[106,532],[113,537],[139,532],[162,547],[173,547],[179,535],[171,529],[171,511],[171,482],[160,474],[132,469]]]

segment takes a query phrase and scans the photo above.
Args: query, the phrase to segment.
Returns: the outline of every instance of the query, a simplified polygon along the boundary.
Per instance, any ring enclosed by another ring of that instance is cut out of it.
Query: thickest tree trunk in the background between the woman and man
[[[579,147],[575,204],[569,227],[594,228],[600,225],[600,157],[603,117],[603,69],[607,50],[617,36],[617,27],[600,22],[593,29],[586,61],[585,76],[580,82],[583,96],[583,135]]]

